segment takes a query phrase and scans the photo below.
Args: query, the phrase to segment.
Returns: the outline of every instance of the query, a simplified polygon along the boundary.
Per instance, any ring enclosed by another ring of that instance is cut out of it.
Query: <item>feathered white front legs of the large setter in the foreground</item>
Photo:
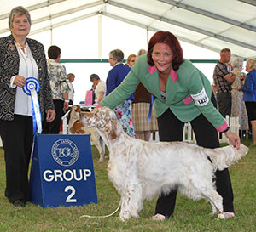
[[[138,212],[143,209],[142,189],[139,184],[128,182],[121,195],[121,211],[119,218],[122,221],[131,217],[138,218]]]

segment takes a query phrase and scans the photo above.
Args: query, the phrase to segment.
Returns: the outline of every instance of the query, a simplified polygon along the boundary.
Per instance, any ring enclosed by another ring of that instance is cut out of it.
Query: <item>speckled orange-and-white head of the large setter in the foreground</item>
[[[111,135],[111,139],[116,139],[119,131],[119,122],[113,110],[108,107],[96,108],[89,112],[80,114],[80,122],[84,127],[96,127],[102,133]]]

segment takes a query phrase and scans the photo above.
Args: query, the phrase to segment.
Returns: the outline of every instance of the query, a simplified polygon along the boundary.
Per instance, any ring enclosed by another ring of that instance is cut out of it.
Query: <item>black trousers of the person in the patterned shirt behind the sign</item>
[[[52,122],[43,122],[43,132],[42,133],[59,133],[61,127],[61,117],[63,116],[63,100],[53,100],[55,105],[55,120]],[[46,117],[44,117],[46,118]]]

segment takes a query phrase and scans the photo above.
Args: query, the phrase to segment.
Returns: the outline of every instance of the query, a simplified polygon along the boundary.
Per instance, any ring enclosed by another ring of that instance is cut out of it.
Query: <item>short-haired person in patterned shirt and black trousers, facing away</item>
[[[55,120],[43,123],[43,133],[59,133],[61,116],[68,109],[67,74],[64,65],[60,64],[61,49],[51,46],[48,49],[47,67],[52,99],[55,105]]]

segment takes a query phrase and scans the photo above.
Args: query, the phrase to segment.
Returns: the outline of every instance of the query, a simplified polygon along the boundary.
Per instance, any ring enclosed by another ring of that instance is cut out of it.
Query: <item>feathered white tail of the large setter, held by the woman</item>
[[[229,145],[222,148],[206,149],[204,151],[218,170],[224,170],[224,168],[230,167],[243,156],[246,156],[249,149],[244,144],[240,144],[239,150]]]

